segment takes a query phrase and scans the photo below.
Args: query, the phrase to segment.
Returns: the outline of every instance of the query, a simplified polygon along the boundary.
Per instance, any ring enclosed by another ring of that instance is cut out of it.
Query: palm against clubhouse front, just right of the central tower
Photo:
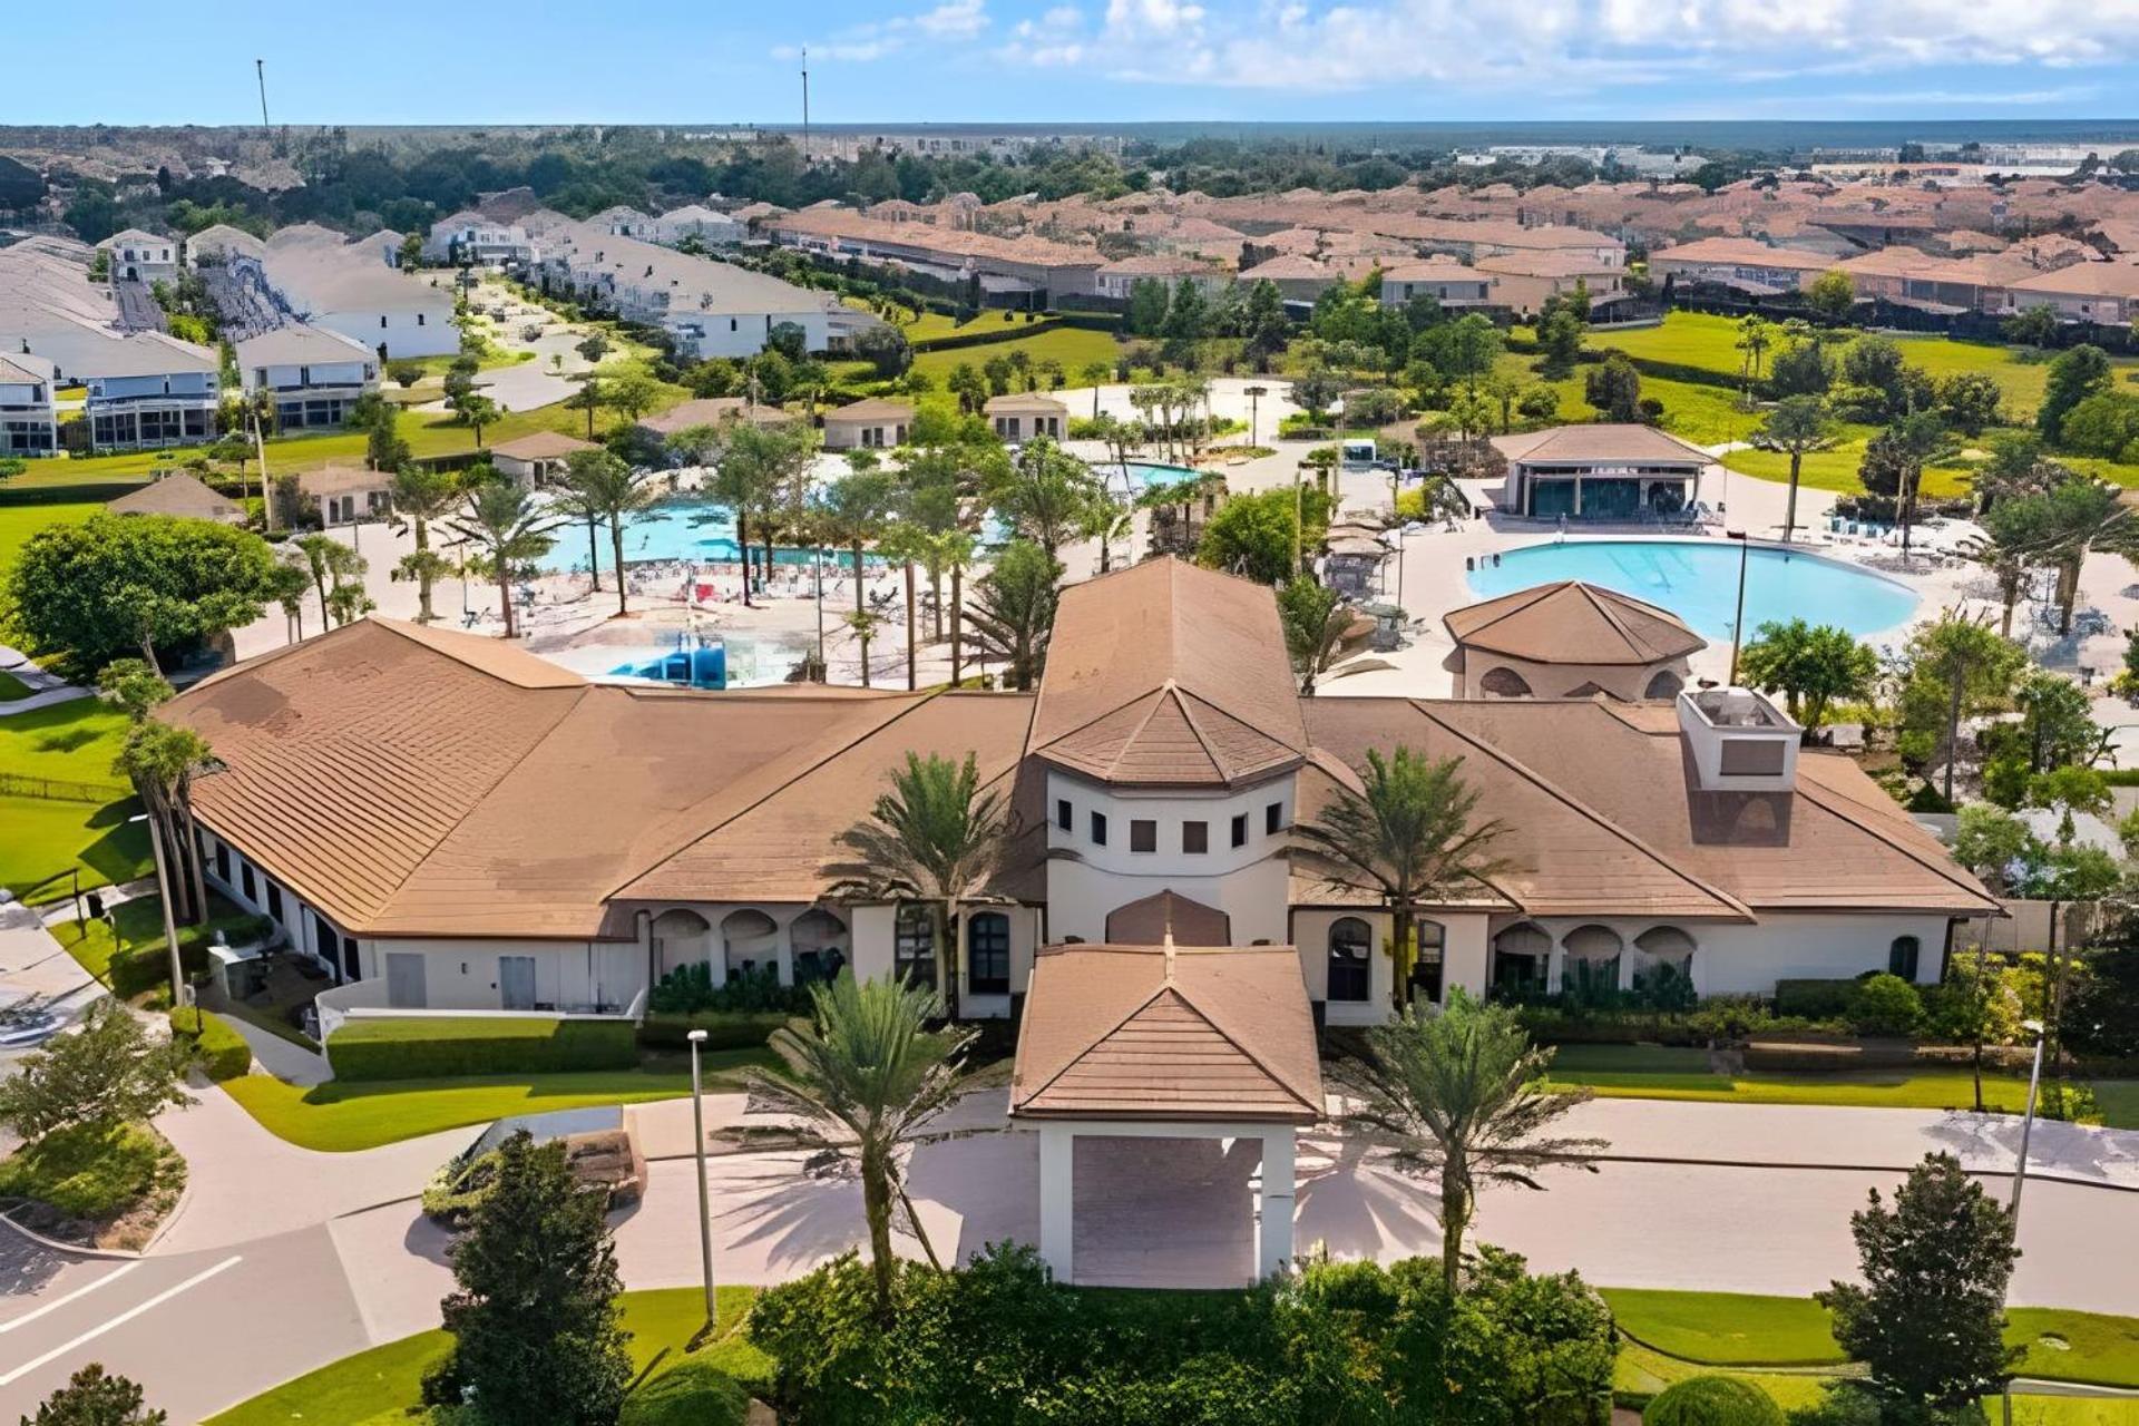
[[[1418,906],[1493,892],[1493,879],[1508,870],[1493,855],[1508,823],[1474,819],[1478,791],[1461,770],[1461,757],[1429,759],[1405,746],[1388,757],[1369,750],[1358,787],[1339,782],[1322,817],[1294,827],[1322,862],[1326,885],[1367,892],[1392,911],[1397,1009],[1412,1001]]]

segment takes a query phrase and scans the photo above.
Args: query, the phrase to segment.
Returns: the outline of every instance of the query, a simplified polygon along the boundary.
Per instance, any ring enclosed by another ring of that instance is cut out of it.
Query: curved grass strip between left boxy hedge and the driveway
[[[704,1056],[708,1086],[734,1090],[740,1071],[770,1065],[770,1050],[719,1050]],[[284,1084],[272,1075],[246,1075],[225,1086],[231,1099],[270,1133],[338,1154],[413,1140],[462,1125],[488,1125],[509,1114],[584,1110],[603,1103],[644,1103],[691,1092],[691,1073],[680,1065],[652,1069],[603,1069],[563,1075],[486,1075],[468,1080],[376,1080],[344,1084],[329,1080],[314,1088]]]

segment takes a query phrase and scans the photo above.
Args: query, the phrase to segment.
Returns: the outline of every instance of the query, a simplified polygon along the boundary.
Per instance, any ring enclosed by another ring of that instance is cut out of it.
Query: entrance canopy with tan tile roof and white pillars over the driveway
[[[1040,1127],[1040,1255],[1076,1281],[1078,1137],[1260,1144],[1256,1276],[1292,1257],[1292,1150],[1322,1118],[1292,947],[1055,945],[1033,960],[1010,1088]]]

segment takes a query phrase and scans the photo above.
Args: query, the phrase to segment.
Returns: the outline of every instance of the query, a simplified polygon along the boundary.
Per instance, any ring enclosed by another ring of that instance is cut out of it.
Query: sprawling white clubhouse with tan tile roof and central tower
[[[838,836],[907,755],[978,763],[1012,834],[960,911],[967,1016],[1044,947],[1288,947],[1322,1022],[1390,1011],[1390,915],[1294,836],[1369,753],[1461,759],[1506,868],[1425,906],[1414,998],[1936,981],[1981,883],[1745,691],[1298,697],[1266,586],[1170,558],[1070,586],[1035,693],[633,688],[357,620],[178,695],[207,877],[327,966],[321,1016],[633,1016],[687,964],[933,981],[928,915]],[[1194,996],[1189,996],[1194,1001]],[[1176,1011],[1168,1011],[1176,1013]]]

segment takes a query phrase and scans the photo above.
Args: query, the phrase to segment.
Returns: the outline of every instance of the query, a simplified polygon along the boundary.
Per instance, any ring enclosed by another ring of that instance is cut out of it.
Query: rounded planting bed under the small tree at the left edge
[[[148,1246],[184,1187],[184,1157],[148,1125],[56,1129],[0,1161],[9,1219],[90,1249]]]

